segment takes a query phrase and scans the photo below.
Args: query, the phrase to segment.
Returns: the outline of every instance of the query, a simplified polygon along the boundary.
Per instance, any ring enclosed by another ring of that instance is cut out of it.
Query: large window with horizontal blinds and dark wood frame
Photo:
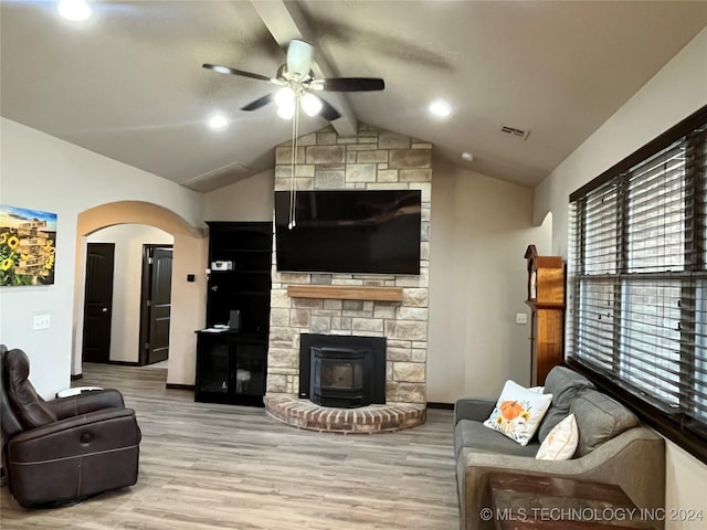
[[[707,107],[570,195],[568,363],[707,462]]]

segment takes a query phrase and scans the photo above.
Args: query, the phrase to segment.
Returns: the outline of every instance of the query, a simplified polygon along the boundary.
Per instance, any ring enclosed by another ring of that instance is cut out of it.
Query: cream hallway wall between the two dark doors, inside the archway
[[[94,232],[88,243],[114,243],[110,360],[138,362],[140,357],[140,301],[143,245],[171,245],[167,232],[141,224],[118,224]]]

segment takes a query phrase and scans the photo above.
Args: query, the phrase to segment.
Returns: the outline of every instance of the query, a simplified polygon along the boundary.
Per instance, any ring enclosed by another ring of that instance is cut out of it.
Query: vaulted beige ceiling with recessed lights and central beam
[[[272,168],[292,124],[273,105],[240,110],[272,85],[202,63],[270,77],[287,43],[304,39],[317,76],[386,81],[383,92],[325,94],[342,114],[333,123],[340,134],[366,123],[532,187],[707,25],[704,1],[91,6],[91,19],[70,22],[52,1],[0,3],[2,116],[204,191]],[[450,103],[449,117],[429,113],[436,98]],[[226,128],[207,126],[217,112]],[[299,132],[326,125],[303,116]]]

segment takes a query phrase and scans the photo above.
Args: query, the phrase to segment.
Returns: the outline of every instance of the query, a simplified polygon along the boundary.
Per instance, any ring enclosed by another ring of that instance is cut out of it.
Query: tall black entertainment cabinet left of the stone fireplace
[[[207,328],[197,331],[196,401],[263,406],[273,225],[207,222]]]

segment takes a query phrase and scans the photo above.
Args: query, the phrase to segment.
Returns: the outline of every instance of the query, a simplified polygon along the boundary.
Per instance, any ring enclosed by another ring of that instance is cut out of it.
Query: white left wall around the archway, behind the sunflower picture
[[[201,226],[202,198],[6,118],[0,121],[0,201],[57,213],[55,284],[0,289],[1,340],[27,351],[32,382],[49,398],[70,383],[77,214],[98,204],[137,200],[160,204]],[[51,327],[33,331],[33,317],[42,314],[51,316]]]

